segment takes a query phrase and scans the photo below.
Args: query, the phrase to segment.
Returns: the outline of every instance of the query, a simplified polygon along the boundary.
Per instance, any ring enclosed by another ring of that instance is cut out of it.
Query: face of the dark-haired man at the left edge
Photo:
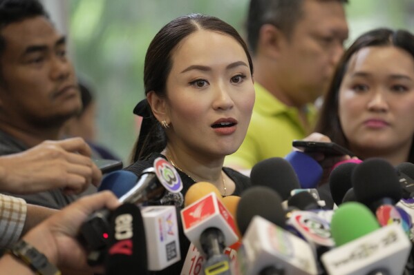
[[[45,17],[32,17],[1,30],[0,119],[15,127],[62,125],[80,101],[65,39]]]

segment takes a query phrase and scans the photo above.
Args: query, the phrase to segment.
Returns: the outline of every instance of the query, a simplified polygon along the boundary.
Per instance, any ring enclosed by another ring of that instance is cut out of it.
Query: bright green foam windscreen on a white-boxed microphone
[[[343,203],[335,210],[330,231],[335,245],[339,247],[379,229],[377,218],[362,203]]]

